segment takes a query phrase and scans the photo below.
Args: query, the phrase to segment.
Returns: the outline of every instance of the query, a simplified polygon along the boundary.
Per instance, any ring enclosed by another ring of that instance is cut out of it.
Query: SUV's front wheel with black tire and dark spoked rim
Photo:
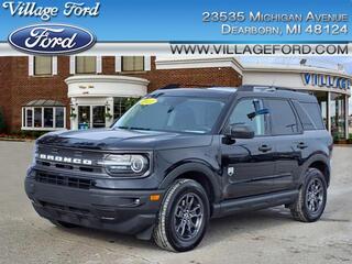
[[[168,251],[193,250],[206,233],[209,216],[209,200],[202,186],[193,179],[178,179],[164,196],[154,241]]]

